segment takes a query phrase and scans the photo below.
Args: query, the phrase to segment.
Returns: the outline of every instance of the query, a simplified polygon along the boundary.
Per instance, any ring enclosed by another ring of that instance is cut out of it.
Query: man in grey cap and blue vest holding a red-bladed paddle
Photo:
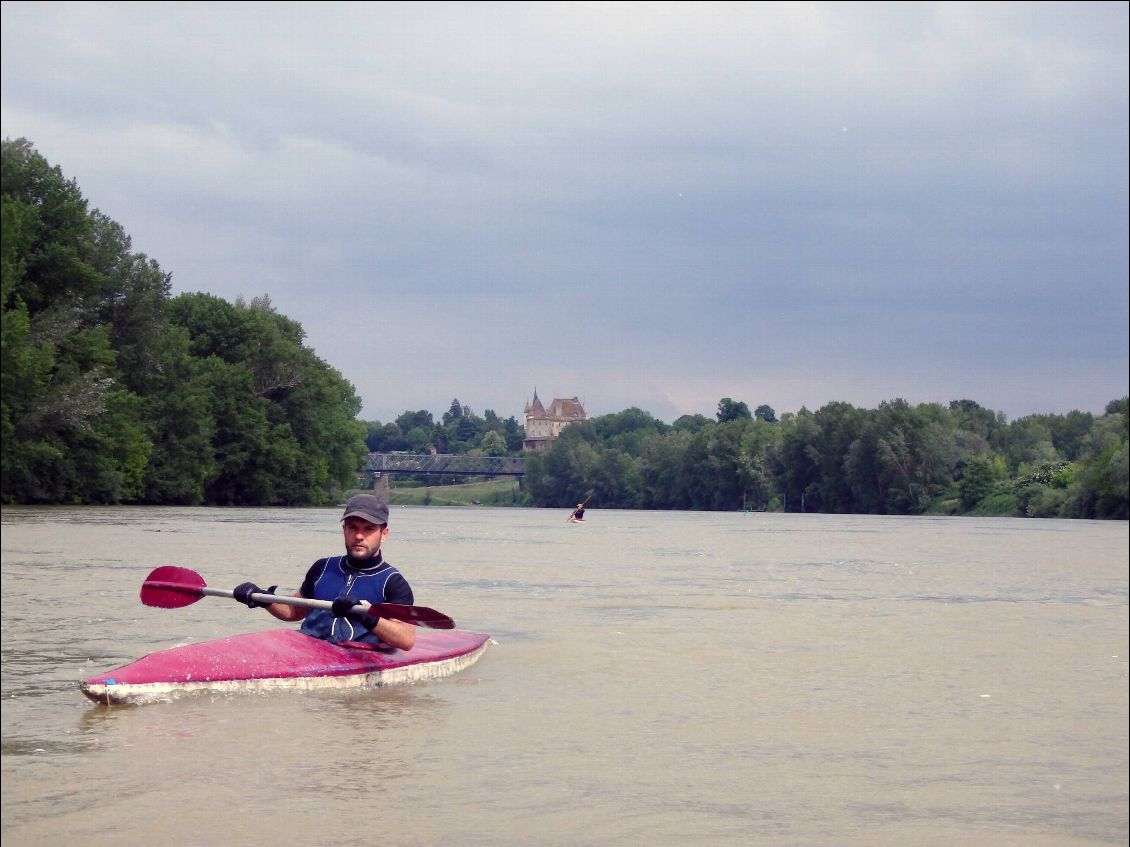
[[[259,603],[252,594],[273,594],[277,586],[263,591],[254,583],[243,583],[233,592],[241,603],[264,606],[279,620],[302,621],[302,631],[327,641],[388,644],[411,649],[416,628],[405,621],[370,615],[350,615],[358,603],[400,603],[412,605],[408,580],[381,556],[381,543],[389,538],[389,507],[374,495],[357,495],[346,504],[341,516],[346,555],[315,561],[294,595],[307,600],[328,600],[333,609],[306,609],[282,603]]]

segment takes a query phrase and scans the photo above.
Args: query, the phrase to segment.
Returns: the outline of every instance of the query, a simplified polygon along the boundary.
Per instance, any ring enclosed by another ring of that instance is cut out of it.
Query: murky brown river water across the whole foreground
[[[6,847],[1128,844],[1125,522],[394,508],[472,667],[81,696],[290,626],[146,608],[151,568],[293,588],[339,514],[5,508]]]

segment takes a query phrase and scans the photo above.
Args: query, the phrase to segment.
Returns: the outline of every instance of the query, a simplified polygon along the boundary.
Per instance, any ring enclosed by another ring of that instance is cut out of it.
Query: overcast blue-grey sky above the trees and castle
[[[1128,5],[2,5],[24,137],[362,417],[1128,391]]]

